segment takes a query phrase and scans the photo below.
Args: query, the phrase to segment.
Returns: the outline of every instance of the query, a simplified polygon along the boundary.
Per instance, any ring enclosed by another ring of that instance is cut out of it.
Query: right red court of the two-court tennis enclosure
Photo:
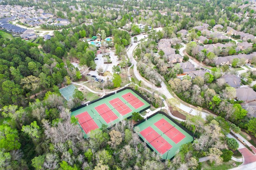
[[[154,123],[154,125],[158,127],[158,129],[160,129],[166,136],[172,139],[172,141],[174,141],[176,144],[186,137],[165,119],[157,121]]]

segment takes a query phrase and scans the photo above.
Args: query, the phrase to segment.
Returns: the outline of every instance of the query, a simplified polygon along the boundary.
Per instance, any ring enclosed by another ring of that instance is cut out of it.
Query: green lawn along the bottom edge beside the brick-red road
[[[233,163],[236,164],[236,166],[233,165]],[[235,167],[238,167],[242,162],[236,162],[234,160],[230,160],[229,162],[223,162],[222,165],[218,166],[209,166],[207,164],[207,161],[202,162],[202,170],[229,170]]]

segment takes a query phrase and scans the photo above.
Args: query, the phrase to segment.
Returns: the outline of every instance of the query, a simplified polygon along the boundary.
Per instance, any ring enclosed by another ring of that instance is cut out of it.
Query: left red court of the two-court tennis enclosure
[[[162,136],[160,136],[152,127],[147,127],[140,134],[160,153],[164,154],[172,148]]]

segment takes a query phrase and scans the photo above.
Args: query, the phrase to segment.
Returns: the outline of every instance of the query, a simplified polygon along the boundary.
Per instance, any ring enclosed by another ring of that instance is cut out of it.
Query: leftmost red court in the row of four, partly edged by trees
[[[88,134],[91,130],[99,128],[87,111],[76,115],[75,117],[78,118],[78,122],[86,134]]]

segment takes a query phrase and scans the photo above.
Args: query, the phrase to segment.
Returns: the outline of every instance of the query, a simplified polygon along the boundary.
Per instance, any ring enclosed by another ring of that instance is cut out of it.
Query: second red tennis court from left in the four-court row
[[[96,111],[98,111],[98,113],[100,113],[101,117],[106,121],[106,123],[110,123],[118,118],[117,115],[106,104],[102,104],[94,108]]]

